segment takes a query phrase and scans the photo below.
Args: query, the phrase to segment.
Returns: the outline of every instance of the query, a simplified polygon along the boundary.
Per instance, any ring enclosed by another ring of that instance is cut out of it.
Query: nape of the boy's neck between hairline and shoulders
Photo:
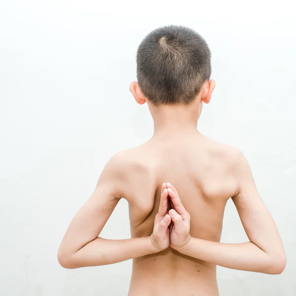
[[[150,107],[154,121],[153,137],[171,137],[196,132],[199,106]]]

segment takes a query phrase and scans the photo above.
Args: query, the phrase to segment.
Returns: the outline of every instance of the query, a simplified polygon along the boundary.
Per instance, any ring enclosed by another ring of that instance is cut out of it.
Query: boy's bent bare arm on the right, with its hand
[[[281,273],[286,265],[284,247],[271,214],[259,196],[248,161],[242,153],[237,157],[236,167],[239,190],[232,200],[250,241],[242,244],[224,244],[191,237],[185,246],[179,245],[175,249],[187,256],[223,267],[268,274]],[[175,196],[171,197],[177,205],[175,210],[181,209],[182,203],[177,191],[170,190],[169,195]],[[184,207],[182,211],[185,211]],[[172,217],[172,220],[179,219],[181,222],[182,213],[180,214],[180,217]],[[182,225],[180,222],[179,225]],[[182,229],[184,235],[188,236],[188,229]],[[183,241],[188,239],[185,238]]]

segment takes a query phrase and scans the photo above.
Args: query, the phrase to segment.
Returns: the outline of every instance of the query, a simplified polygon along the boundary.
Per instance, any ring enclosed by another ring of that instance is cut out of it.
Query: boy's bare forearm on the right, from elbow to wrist
[[[268,274],[281,272],[281,266],[252,242],[224,244],[191,237],[180,253],[223,267]]]

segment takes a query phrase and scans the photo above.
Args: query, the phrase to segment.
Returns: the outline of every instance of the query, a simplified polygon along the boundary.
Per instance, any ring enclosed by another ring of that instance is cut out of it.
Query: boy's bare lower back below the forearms
[[[128,296],[218,296],[216,265],[169,248],[133,260]]]

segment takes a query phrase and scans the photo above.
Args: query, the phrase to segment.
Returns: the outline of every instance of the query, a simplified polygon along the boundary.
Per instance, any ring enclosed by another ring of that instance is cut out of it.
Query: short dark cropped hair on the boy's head
[[[152,104],[189,104],[211,76],[211,51],[198,33],[183,26],[150,32],[137,51],[137,79]]]

